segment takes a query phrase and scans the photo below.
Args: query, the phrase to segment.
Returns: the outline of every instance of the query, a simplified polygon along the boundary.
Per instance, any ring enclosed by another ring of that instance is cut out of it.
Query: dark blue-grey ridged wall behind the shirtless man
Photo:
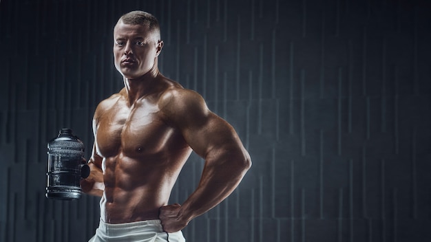
[[[0,241],[86,241],[98,199],[45,198],[46,143],[93,142],[118,91],[112,29],[158,17],[165,76],[237,129],[253,168],[188,241],[431,241],[431,17],[425,1],[0,2]],[[192,155],[171,196],[196,187]]]

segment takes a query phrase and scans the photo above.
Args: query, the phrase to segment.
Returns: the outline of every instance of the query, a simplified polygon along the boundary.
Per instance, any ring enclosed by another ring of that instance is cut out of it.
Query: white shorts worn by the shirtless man
[[[182,232],[163,231],[159,219],[133,223],[105,223],[101,221],[96,234],[88,242],[185,242]]]

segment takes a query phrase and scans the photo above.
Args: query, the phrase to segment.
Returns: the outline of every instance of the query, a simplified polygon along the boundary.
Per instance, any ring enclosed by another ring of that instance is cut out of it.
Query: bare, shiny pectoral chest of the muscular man
[[[178,143],[178,132],[163,120],[157,105],[140,102],[134,107],[113,107],[101,115],[96,132],[98,153],[114,157],[154,155]]]

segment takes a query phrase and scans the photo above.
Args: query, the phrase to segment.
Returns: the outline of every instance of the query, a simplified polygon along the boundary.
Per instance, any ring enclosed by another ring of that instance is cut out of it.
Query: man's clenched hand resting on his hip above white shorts
[[[180,211],[181,205],[178,203],[160,208],[158,217],[162,222],[163,230],[165,230],[165,232],[177,232],[187,226],[189,221],[182,219]]]

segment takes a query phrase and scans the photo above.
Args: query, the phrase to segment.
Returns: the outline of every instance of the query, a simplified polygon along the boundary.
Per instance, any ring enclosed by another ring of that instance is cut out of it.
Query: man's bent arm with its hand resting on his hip
[[[179,99],[179,101],[178,101]],[[233,127],[208,110],[203,98],[185,90],[170,102],[170,115],[193,151],[205,159],[196,190],[182,203],[160,208],[166,232],[176,232],[228,197],[251,167]]]

